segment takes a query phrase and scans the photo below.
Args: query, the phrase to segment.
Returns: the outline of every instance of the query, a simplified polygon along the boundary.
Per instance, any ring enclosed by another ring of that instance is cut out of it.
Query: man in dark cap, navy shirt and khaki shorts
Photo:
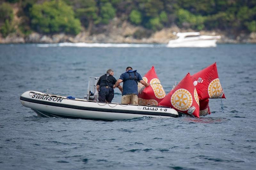
[[[126,68],[126,72],[121,74],[113,87],[117,87],[121,82],[123,82],[123,96],[121,103],[138,105],[138,82],[146,87],[148,87],[148,83],[141,78],[140,74],[137,73],[137,70],[132,70],[132,67]]]

